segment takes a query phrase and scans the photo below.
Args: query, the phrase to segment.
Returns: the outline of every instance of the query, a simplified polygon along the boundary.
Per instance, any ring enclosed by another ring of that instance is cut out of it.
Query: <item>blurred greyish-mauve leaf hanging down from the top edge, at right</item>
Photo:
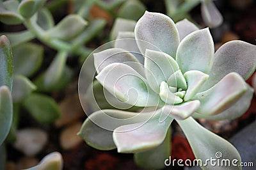
[[[223,17],[212,1],[202,1],[201,12],[207,26],[214,28],[222,24]]]

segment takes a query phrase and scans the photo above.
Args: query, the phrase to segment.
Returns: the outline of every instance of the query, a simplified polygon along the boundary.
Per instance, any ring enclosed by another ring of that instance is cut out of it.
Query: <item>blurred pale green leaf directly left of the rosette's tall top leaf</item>
[[[117,18],[113,24],[110,33],[110,40],[115,40],[119,32],[134,31],[136,21],[129,19]]]

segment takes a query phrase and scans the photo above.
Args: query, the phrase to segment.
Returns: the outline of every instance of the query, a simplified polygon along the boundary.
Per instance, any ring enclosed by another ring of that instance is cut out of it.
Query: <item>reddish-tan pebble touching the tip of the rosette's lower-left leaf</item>
[[[83,139],[77,135],[81,126],[81,122],[76,122],[62,130],[60,135],[60,145],[63,149],[70,150],[83,141]]]

